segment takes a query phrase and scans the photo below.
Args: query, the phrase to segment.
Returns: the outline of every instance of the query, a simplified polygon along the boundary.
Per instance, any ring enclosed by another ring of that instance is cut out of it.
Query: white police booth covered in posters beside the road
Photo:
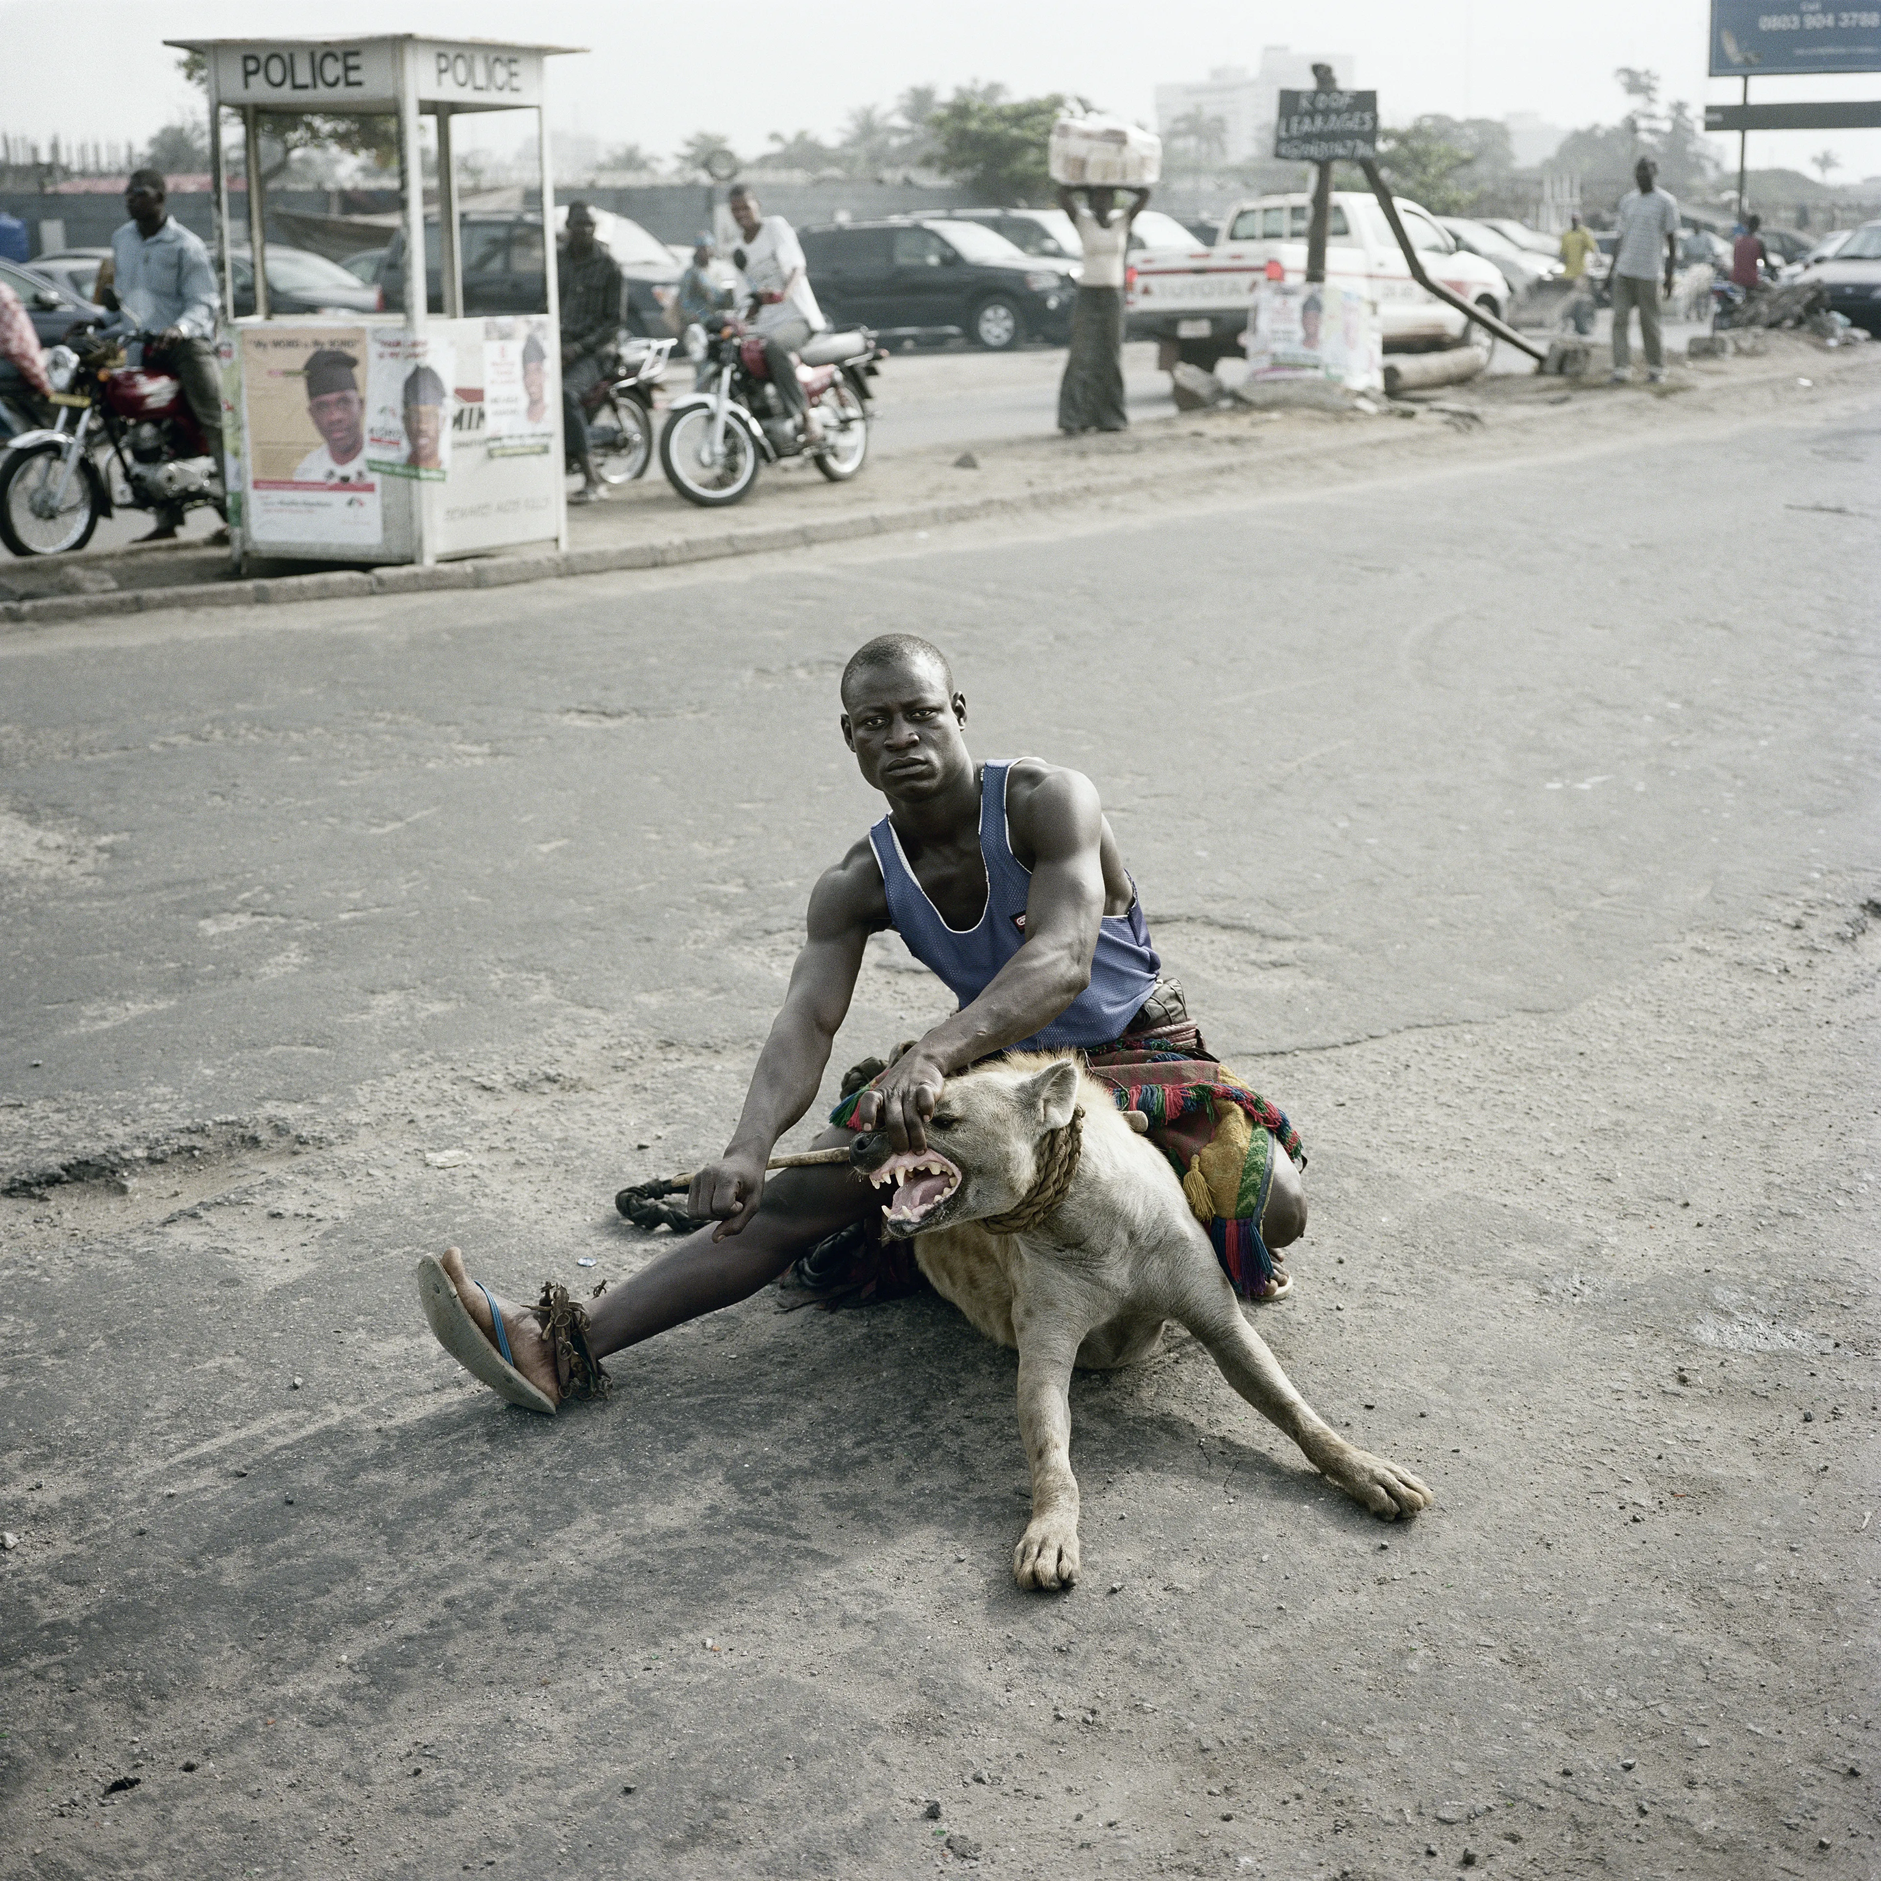
[[[173,40],[201,53],[224,325],[229,544],[254,557],[436,562],[525,542],[568,545],[555,201],[544,66],[553,45],[489,40]],[[229,216],[222,113],[243,120],[246,229]],[[451,122],[532,111],[545,305],[466,318]],[[397,120],[403,275],[382,312],[269,310],[261,130],[269,119]],[[435,120],[425,214],[421,119]],[[427,241],[427,222],[433,222]],[[233,318],[246,235],[254,312]],[[440,312],[431,312],[433,295]]]

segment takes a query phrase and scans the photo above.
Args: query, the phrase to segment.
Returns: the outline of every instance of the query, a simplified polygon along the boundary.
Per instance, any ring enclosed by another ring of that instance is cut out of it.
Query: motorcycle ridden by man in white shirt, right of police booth
[[[741,502],[758,470],[782,457],[811,461],[831,483],[846,483],[869,455],[869,380],[888,354],[867,327],[813,333],[803,346],[798,384],[816,408],[824,442],[811,450],[801,423],[771,384],[764,340],[743,322],[726,320],[715,335],[687,327],[687,357],[705,367],[709,389],[673,399],[660,433],[660,468],[687,502],[717,510]]]

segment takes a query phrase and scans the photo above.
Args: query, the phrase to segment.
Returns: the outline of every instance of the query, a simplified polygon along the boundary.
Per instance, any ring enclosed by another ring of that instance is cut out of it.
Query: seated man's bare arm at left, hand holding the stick
[[[737,1234],[758,1211],[771,1147],[814,1102],[830,1046],[856,991],[861,950],[869,935],[886,925],[882,873],[861,841],[811,890],[803,950],[790,971],[790,989],[771,1036],[758,1053],[737,1129],[724,1155],[692,1178],[688,1211],[724,1223],[713,1240]]]

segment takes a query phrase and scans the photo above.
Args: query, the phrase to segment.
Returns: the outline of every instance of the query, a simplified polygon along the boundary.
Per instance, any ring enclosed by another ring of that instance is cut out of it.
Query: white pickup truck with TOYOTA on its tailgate
[[[1480,256],[1458,248],[1416,203],[1396,198],[1411,245],[1431,280],[1505,316],[1509,284]],[[1132,256],[1125,308],[1132,340],[1162,340],[1164,352],[1213,369],[1240,354],[1247,308],[1262,280],[1305,280],[1309,196],[1260,196],[1236,203],[1213,248],[1149,248]],[[1398,237],[1377,198],[1336,190],[1326,222],[1326,282],[1367,293],[1379,305],[1386,352],[1460,346],[1471,322],[1411,278]],[[1174,365],[1174,359],[1164,363]]]

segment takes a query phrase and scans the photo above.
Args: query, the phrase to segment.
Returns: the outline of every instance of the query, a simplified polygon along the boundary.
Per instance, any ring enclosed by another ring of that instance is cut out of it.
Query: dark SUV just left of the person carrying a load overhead
[[[839,222],[799,229],[811,286],[835,325],[884,340],[969,339],[1010,352],[1070,337],[1076,288],[978,222]]]

